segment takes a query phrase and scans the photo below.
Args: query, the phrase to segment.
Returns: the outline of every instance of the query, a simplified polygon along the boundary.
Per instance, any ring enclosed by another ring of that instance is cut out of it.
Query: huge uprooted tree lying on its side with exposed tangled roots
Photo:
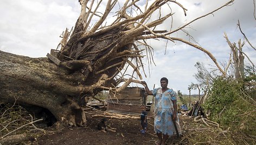
[[[142,79],[139,71],[144,70],[142,57],[152,59],[152,48],[146,43],[147,39],[166,39],[191,45],[205,52],[221,70],[208,50],[185,39],[172,37],[172,34],[186,32],[184,28],[189,24],[233,1],[167,31],[161,30],[159,25],[168,18],[172,19],[174,6],[184,11],[183,16],[187,15],[187,9],[176,1],[157,0],[151,4],[146,1],[144,8],[139,8],[138,0],[108,0],[105,4],[103,1],[80,0],[81,13],[74,28],[63,32],[58,46],[60,50],[52,50],[47,55],[50,59],[0,51],[1,102],[17,103],[34,110],[34,113],[48,110],[58,121],[83,126],[86,116],[82,107],[86,105],[87,97],[95,96],[103,89],[118,93],[131,82],[140,83],[134,74]],[[117,10],[120,4],[123,5]],[[100,11],[102,5],[105,5],[104,11]],[[169,8],[169,12],[162,14],[161,8],[165,11]],[[116,15],[110,17],[113,12]],[[116,19],[111,21],[112,18]],[[93,23],[95,20],[97,22]],[[125,78],[125,64],[134,69],[130,78]],[[117,88],[120,82],[124,84]]]

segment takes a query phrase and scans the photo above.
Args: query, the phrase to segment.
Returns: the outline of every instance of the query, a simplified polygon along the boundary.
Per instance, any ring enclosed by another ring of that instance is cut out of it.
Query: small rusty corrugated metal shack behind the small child
[[[119,94],[110,93],[107,99],[110,113],[139,115],[142,104],[146,104],[144,88],[129,87]]]

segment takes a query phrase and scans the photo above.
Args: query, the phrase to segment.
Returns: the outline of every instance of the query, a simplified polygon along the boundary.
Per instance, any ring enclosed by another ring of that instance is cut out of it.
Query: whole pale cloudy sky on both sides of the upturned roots
[[[120,1],[120,3],[123,1]],[[145,1],[138,5],[143,6]],[[190,0],[177,1],[187,9],[187,16],[183,10],[175,4],[171,4],[174,30],[182,24],[205,15],[219,6],[227,3],[223,0]],[[101,7],[104,8],[104,7]],[[170,9],[163,9],[163,14],[168,14]],[[0,2],[0,50],[12,54],[29,57],[46,57],[50,49],[56,49],[61,41],[59,37],[62,32],[69,30],[75,25],[80,14],[78,1],[63,0],[9,0]],[[224,32],[231,42],[237,43],[242,36],[237,27],[238,19],[242,31],[251,44],[256,46],[256,20],[254,18],[253,0],[235,0],[232,5],[226,6],[213,15],[203,17],[190,24],[185,30],[204,49],[210,51],[218,63],[227,62],[230,48],[223,37]],[[158,14],[156,14],[158,15]],[[161,25],[163,29],[170,29],[170,19]],[[188,38],[182,33],[173,34],[174,37]],[[150,89],[160,87],[160,79],[167,77],[168,87],[175,91],[180,90],[182,94],[189,94],[188,85],[197,83],[194,75],[197,73],[194,65],[203,62],[206,67],[215,66],[213,61],[202,51],[189,45],[176,42],[168,42],[165,52],[166,41],[148,40],[152,46],[153,60],[156,65],[148,64],[145,59],[146,77],[143,81],[148,83]],[[246,45],[243,51],[251,61],[256,64],[256,51]],[[143,74],[143,73],[142,73]],[[139,80],[139,79],[138,79]],[[132,84],[135,87],[136,84]],[[138,84],[139,87],[142,85]],[[197,94],[197,90],[191,91]]]

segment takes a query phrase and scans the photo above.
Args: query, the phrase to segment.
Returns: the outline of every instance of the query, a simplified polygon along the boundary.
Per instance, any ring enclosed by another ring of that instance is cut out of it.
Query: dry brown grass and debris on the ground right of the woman
[[[203,122],[194,122],[194,117],[181,116],[180,120],[183,136],[179,140],[172,136],[168,144],[256,144],[256,137],[221,127],[207,127]]]

